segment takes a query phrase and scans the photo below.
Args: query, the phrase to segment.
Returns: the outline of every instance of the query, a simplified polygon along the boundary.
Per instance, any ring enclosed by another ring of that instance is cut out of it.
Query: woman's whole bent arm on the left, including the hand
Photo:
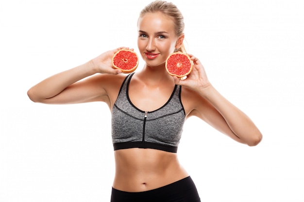
[[[96,73],[118,74],[120,70],[112,67],[112,57],[123,47],[107,51],[82,65],[53,75],[34,85],[28,96],[33,102],[45,104],[74,104],[105,101],[104,86],[97,85],[101,75]],[[89,78],[87,78],[89,77]],[[83,78],[86,78],[82,80]]]

